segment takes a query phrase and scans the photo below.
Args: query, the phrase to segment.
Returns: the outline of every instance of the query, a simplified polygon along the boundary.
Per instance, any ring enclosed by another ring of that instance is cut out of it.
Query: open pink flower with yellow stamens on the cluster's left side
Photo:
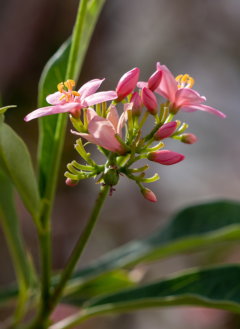
[[[118,97],[116,91],[100,91],[95,93],[101,83],[105,79],[94,79],[85,83],[78,91],[73,91],[75,82],[73,80],[67,80],[64,85],[68,91],[64,90],[64,85],[61,82],[58,84],[54,94],[50,94],[46,97],[49,104],[53,106],[42,107],[28,114],[24,120],[30,121],[40,116],[70,112],[72,116],[77,119],[81,115],[81,109],[95,105],[101,102],[116,99]]]

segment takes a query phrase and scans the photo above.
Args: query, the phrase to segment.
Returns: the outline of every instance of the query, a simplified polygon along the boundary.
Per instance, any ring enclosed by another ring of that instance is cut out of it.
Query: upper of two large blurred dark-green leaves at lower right
[[[216,243],[240,238],[240,203],[218,201],[187,208],[164,229],[133,240],[76,271],[75,277],[95,276],[114,268],[131,268],[172,255],[192,252]]]

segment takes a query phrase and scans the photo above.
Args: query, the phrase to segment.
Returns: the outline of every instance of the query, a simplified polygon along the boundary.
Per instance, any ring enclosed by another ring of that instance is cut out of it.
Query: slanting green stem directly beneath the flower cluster
[[[100,192],[96,199],[95,206],[93,208],[93,212],[88,220],[88,223],[87,223],[84,231],[82,232],[82,234],[75,246],[75,249],[74,249],[71,257],[68,260],[67,266],[64,268],[64,270],[61,274],[61,279],[60,279],[59,283],[55,287],[55,291],[54,291],[54,294],[52,297],[53,306],[55,306],[56,303],[58,302],[58,300],[61,296],[61,292],[64,289],[67,281],[70,279],[72,272],[74,270],[74,267],[76,266],[76,263],[79,260],[81,254],[87,244],[87,241],[89,240],[89,237],[94,229],[95,223],[100,214],[102,205],[107,196],[108,190],[109,190],[109,186],[107,186],[107,185],[100,188]]]

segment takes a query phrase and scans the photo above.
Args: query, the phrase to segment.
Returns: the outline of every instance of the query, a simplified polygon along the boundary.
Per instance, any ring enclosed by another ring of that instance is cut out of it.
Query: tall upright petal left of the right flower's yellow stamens
[[[157,70],[161,70],[163,72],[162,80],[160,85],[154,91],[163,97],[170,99],[170,101],[174,102],[175,100],[175,93],[178,91],[178,84],[166,67],[166,65],[161,65],[159,62],[157,63]]]

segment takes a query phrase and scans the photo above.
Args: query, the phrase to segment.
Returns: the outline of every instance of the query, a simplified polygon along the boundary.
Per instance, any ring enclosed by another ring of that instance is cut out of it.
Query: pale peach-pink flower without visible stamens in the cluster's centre
[[[78,133],[72,130],[71,132],[75,135],[80,135],[93,144],[97,144],[109,151],[116,152],[123,156],[126,154],[126,149],[120,144],[114,135],[118,133],[121,137],[122,127],[127,120],[127,110],[131,110],[132,106],[133,102],[124,104],[124,112],[119,117],[116,107],[111,105],[106,119],[98,116],[92,108],[88,108],[87,119],[89,122],[89,134]]]

